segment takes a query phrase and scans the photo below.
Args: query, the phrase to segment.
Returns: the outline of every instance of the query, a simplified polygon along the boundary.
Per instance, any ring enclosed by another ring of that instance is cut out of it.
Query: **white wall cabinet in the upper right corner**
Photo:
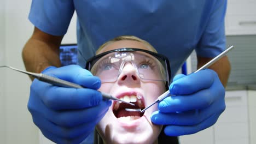
[[[230,0],[225,17],[226,35],[256,34],[256,1]]]

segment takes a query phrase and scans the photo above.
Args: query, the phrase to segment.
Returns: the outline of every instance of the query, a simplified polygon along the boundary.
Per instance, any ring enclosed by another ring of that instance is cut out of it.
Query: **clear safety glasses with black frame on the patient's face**
[[[88,59],[86,69],[100,77],[102,83],[115,82],[123,70],[135,70],[143,81],[170,82],[170,64],[168,59],[155,52],[121,48],[107,51]]]

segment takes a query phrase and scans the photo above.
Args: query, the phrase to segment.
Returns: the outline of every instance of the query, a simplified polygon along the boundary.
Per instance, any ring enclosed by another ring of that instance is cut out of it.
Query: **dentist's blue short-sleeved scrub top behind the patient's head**
[[[171,77],[194,49],[201,57],[225,50],[226,0],[33,0],[29,20],[46,33],[64,35],[74,10],[82,67],[100,45],[120,35],[147,40],[167,56]]]

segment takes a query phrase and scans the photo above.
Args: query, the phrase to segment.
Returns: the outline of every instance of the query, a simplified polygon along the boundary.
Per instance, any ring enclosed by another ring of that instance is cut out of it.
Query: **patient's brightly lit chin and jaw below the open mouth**
[[[135,129],[127,129],[108,119],[108,121],[101,121],[97,125],[97,129],[100,130],[98,132],[106,143],[153,143],[158,139],[161,125],[155,125],[146,120]]]

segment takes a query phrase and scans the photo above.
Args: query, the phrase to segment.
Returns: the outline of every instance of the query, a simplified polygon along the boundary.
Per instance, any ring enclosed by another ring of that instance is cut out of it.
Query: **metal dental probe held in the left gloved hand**
[[[10,68],[10,69],[19,71],[21,73],[33,76],[34,78],[38,79],[39,81],[47,82],[47,83],[50,83],[51,85],[61,86],[61,87],[69,87],[69,88],[85,88],[85,87],[82,87],[80,85],[77,85],[76,83],[72,83],[72,82],[69,82],[69,81],[61,80],[61,79],[58,79],[56,77],[52,77],[52,76],[49,76],[49,75],[38,74],[38,73],[31,73],[31,72],[20,70],[20,69],[16,69],[16,68],[13,68],[13,67],[10,67],[10,66],[7,66],[7,65],[0,66],[0,68],[3,68],[3,67],[7,67],[7,68]],[[121,102],[123,102],[125,104],[135,105],[135,104],[132,104],[132,103],[128,103],[128,102],[126,102],[124,100],[115,98],[115,97],[113,97],[112,95],[110,95],[108,93],[101,92],[101,94],[102,94],[102,97],[105,98],[105,99],[112,99],[112,100],[121,101]]]

